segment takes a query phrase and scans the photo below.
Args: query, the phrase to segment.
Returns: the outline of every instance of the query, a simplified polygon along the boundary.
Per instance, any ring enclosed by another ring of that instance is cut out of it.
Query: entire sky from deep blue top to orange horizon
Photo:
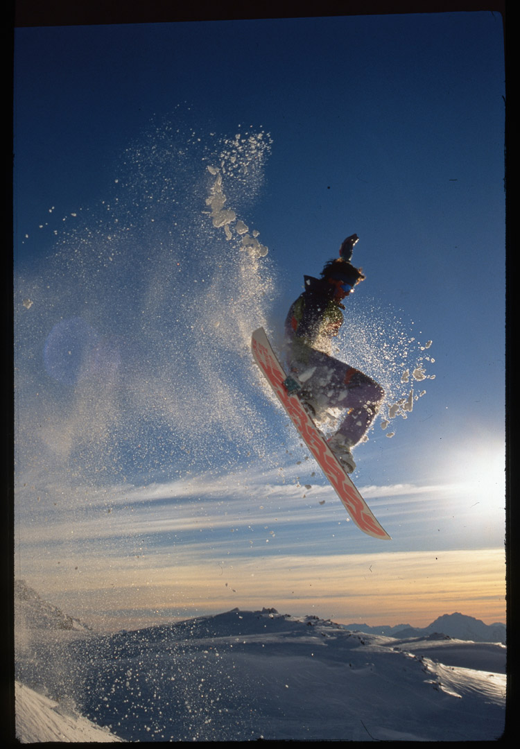
[[[107,627],[504,619],[502,35],[490,12],[16,30],[20,576]],[[216,190],[267,255],[212,225]],[[339,357],[387,410],[426,377],[356,451],[384,548],[247,352],[353,232]]]

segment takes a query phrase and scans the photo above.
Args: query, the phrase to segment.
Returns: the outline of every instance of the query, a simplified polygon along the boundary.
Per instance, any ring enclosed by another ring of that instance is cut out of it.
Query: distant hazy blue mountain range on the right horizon
[[[463,613],[445,613],[438,616],[435,622],[427,627],[412,627],[410,624],[390,626],[378,625],[369,627],[367,624],[347,624],[352,631],[370,632],[371,634],[386,634],[391,637],[426,637],[432,634],[444,634],[456,637],[457,640],[472,640],[475,643],[506,643],[506,625],[501,622],[484,624],[474,616]]]

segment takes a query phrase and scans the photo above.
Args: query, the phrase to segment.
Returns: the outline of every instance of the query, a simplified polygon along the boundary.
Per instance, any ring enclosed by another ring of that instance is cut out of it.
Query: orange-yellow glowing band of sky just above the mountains
[[[44,569],[26,581],[42,598],[106,631],[263,607],[369,626],[425,627],[454,612],[486,624],[506,621],[504,549],[177,560],[175,566],[159,556],[153,568],[151,560],[128,568],[119,560],[100,574],[93,564],[70,580],[70,589],[63,578],[52,585]]]

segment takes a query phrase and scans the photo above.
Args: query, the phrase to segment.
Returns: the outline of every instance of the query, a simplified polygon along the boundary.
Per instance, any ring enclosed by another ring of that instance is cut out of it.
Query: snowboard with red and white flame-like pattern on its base
[[[300,398],[297,394],[288,393],[284,385],[285,372],[277,360],[263,328],[254,331],[251,338],[251,348],[256,364],[273,388],[278,400],[285,408],[354,523],[368,536],[373,536],[375,539],[390,539],[388,533],[372,515],[369,506],[357,491],[354,482],[352,482],[336,455],[327,445],[327,440],[312,421]]]

